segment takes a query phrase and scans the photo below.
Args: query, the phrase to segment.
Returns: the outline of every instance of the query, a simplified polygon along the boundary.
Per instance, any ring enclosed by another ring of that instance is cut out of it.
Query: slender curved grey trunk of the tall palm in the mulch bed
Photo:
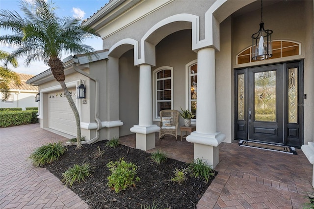
[[[63,93],[65,95],[65,97],[67,98],[69,104],[70,104],[70,107],[74,113],[74,116],[75,116],[75,120],[76,120],[76,123],[77,123],[77,148],[76,149],[80,149],[82,147],[82,143],[81,143],[81,133],[80,133],[80,120],[79,120],[79,114],[78,114],[78,108],[77,106],[75,105],[73,99],[72,99],[72,96],[70,95],[70,92],[68,91],[68,88],[67,86],[65,85],[65,82],[64,81],[59,81],[62,89],[63,89]]]

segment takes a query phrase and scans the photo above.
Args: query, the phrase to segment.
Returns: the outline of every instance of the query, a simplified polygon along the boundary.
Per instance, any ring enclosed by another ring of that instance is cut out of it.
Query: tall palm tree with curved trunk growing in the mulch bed
[[[42,60],[46,63],[53,77],[60,83],[64,95],[75,115],[77,125],[77,149],[81,148],[81,132],[78,109],[64,82],[62,52],[71,54],[85,53],[89,58],[95,50],[82,44],[83,39],[93,38],[98,34],[93,28],[82,26],[81,19],[73,17],[59,18],[55,14],[53,3],[45,0],[20,1],[21,17],[16,11],[0,11],[0,28],[9,29],[12,35],[0,36],[0,42],[14,46],[11,57],[26,56],[25,64]]]

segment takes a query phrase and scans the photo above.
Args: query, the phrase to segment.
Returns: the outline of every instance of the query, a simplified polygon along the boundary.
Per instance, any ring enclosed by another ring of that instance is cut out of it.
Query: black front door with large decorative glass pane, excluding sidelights
[[[283,65],[249,70],[248,139],[284,143],[283,72]]]

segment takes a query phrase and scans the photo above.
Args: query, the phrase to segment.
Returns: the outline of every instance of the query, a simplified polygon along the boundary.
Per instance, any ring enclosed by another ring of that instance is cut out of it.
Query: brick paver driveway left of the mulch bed
[[[27,157],[37,147],[67,139],[39,124],[0,129],[1,209],[86,209],[88,205],[45,168]]]

